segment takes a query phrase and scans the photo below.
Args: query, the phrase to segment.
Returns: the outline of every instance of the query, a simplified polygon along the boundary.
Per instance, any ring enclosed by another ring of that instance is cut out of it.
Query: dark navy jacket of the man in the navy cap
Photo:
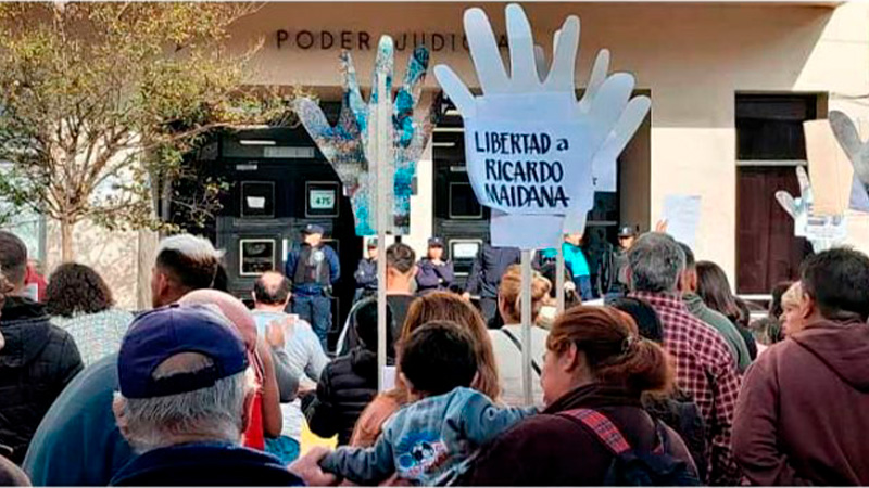
[[[112,486],[304,486],[265,452],[223,442],[154,449],[134,459]]]

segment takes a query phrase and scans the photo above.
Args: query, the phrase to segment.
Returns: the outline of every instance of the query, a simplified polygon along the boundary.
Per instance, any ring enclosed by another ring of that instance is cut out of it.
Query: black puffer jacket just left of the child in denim
[[[350,442],[356,420],[377,395],[377,354],[356,347],[323,370],[316,397],[305,407],[311,432]]]

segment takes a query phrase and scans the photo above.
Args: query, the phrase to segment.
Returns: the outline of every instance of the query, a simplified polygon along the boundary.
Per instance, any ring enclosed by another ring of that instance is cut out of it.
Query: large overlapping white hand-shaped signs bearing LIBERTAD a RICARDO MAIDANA
[[[607,76],[607,51],[599,53],[585,93],[577,101],[578,17],[567,17],[556,33],[549,69],[536,63],[522,9],[507,5],[506,18],[509,76],[489,20],[476,8],[465,12],[464,23],[482,95],[474,97],[448,66],[437,66],[434,75],[465,121],[468,176],[477,198],[494,216],[537,217],[493,219],[493,244],[551,246],[561,241],[561,233],[584,229],[594,203],[595,166],[615,164],[651,102],[646,97],[631,99],[631,75]],[[495,229],[499,222],[511,229],[501,232]],[[518,222],[533,223],[539,239],[529,237]]]

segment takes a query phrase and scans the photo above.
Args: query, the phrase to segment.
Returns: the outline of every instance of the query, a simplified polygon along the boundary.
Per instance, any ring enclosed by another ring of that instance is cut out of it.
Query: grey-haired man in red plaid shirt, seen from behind
[[[676,380],[700,407],[706,422],[713,486],[739,485],[730,429],[740,389],[735,361],[725,338],[688,310],[679,293],[685,255],[660,232],[640,236],[628,251],[629,296],[647,301],[664,326],[664,347],[676,360]]]

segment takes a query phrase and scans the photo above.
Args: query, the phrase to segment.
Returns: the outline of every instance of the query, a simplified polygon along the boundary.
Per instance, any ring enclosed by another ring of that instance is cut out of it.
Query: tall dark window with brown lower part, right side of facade
[[[766,294],[793,280],[810,252],[776,192],[799,194],[795,168],[806,165],[803,123],[817,118],[817,94],[736,94],[736,290]]]

